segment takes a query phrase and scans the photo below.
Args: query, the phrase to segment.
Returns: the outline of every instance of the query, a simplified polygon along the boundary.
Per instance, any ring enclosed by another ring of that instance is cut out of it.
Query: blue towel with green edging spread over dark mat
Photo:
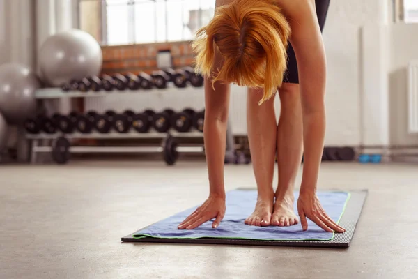
[[[318,192],[320,202],[327,214],[335,222],[343,216],[350,193]],[[295,192],[295,201],[298,193]],[[245,225],[245,219],[254,211],[256,190],[232,190],[226,193],[226,213],[217,229],[212,229],[212,221],[206,222],[196,229],[178,229],[178,225],[187,218],[196,207],[187,209],[158,223],[139,230],[134,238],[154,237],[160,239],[254,239],[254,240],[317,240],[325,241],[334,238],[334,233],[325,232],[315,223],[308,220],[308,230],[302,231],[299,224],[290,227],[255,227]],[[297,212],[295,202],[295,212]]]

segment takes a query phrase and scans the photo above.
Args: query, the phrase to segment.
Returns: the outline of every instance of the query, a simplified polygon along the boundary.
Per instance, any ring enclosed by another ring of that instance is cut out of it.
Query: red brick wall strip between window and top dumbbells
[[[151,73],[157,70],[157,53],[170,50],[173,68],[192,66],[194,54],[190,42],[153,43],[144,45],[104,46],[102,73]]]

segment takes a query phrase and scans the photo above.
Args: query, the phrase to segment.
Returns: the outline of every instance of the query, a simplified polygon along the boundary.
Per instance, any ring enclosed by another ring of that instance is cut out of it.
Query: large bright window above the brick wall
[[[192,40],[214,12],[208,0],[79,0],[80,28],[103,45]]]

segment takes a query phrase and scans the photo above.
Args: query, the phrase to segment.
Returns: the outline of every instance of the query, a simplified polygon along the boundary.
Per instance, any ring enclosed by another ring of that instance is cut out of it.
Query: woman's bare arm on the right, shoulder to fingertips
[[[304,166],[298,211],[304,230],[309,218],[328,232],[344,232],[320,205],[316,186],[325,137],[326,60],[316,17],[315,2],[294,1],[288,7],[292,27],[291,43],[299,70],[304,133]]]

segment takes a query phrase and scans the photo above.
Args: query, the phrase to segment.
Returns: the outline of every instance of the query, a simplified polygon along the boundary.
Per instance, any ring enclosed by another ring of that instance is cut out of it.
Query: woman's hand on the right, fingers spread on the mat
[[[327,232],[346,232],[346,229],[336,224],[327,215],[314,192],[300,193],[297,200],[297,211],[299,212],[300,223],[302,223],[304,231],[308,229],[307,218],[309,218]]]

